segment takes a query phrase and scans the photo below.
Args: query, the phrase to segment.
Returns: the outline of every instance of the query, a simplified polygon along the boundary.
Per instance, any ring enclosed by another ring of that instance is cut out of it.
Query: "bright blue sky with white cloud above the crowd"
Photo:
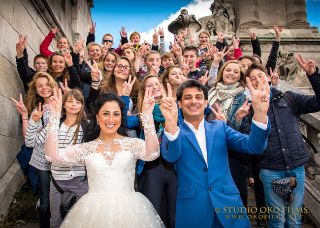
[[[162,0],[162,1],[132,1],[132,0],[93,0],[91,16],[96,22],[96,43],[101,43],[105,33],[114,37],[113,48],[118,47],[121,27],[124,26],[128,37],[131,32],[138,31],[141,42],[152,43],[154,28],[164,29],[166,49],[173,41],[173,34],[167,28],[175,20],[180,11],[186,8],[189,15],[194,14],[196,19],[211,15],[210,5],[213,0]],[[320,28],[320,0],[307,0],[307,17],[311,26]]]

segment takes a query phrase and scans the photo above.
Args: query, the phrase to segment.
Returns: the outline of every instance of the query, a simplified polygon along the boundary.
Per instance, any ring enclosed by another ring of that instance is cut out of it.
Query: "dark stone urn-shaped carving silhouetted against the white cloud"
[[[168,30],[173,34],[178,34],[181,29],[189,28],[191,31],[194,32],[199,31],[202,26],[201,24],[195,19],[195,16],[189,15],[186,9],[181,10],[180,15],[176,20],[171,22],[168,26]]]

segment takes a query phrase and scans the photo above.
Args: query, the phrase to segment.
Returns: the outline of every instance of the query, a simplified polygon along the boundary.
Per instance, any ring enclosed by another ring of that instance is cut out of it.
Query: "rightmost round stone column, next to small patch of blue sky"
[[[307,22],[307,8],[305,0],[286,0],[287,27],[310,26]]]

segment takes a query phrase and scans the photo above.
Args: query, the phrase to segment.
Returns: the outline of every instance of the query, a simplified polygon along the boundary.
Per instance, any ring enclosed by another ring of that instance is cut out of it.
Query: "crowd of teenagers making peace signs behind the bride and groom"
[[[59,148],[98,138],[100,128],[97,120],[100,117],[97,117],[99,110],[96,103],[101,96],[108,96],[108,92],[112,92],[125,104],[124,110],[121,110],[124,122],[122,130],[126,131],[129,137],[142,140],[145,140],[148,131],[147,124],[141,116],[146,111],[146,100],[154,99],[151,111],[162,149],[161,142],[167,121],[161,108],[161,104],[164,103],[163,96],[169,95],[179,104],[179,126],[184,121],[185,111],[181,106],[181,99],[187,99],[181,98],[181,94],[178,95],[179,86],[190,80],[197,81],[204,86],[198,89],[203,88],[203,93],[206,93],[206,107],[203,113],[205,121],[224,121],[235,131],[249,135],[254,121],[251,101],[252,96],[255,96],[251,94],[250,87],[259,88],[259,82],[264,78],[269,82],[268,89],[271,91],[267,111],[271,130],[267,146],[259,155],[249,155],[234,148],[228,149],[226,165],[237,190],[224,194],[240,194],[242,204],[247,208],[247,186],[250,184],[254,186],[256,195],[257,227],[301,226],[301,217],[296,216],[301,210],[296,211],[296,208],[301,208],[303,203],[304,164],[309,161],[309,155],[297,119],[300,114],[320,111],[320,72],[313,60],[305,61],[299,54],[296,60],[306,71],[306,77],[315,95],[281,92],[277,73],[281,27],[274,26],[275,39],[267,62],[262,61],[257,34],[250,29],[248,35],[251,37],[252,55],[242,55],[240,39],[233,37],[229,44],[221,30],[217,31],[218,38],[215,44],[210,41],[210,34],[202,31],[196,36],[197,42],[191,34],[192,39],[188,45],[185,45],[185,38],[189,30],[181,30],[175,35],[167,50],[165,34],[161,28],[158,31],[155,29],[152,43],[147,43],[140,40],[138,32],[132,32],[128,37],[125,28],[122,27],[119,47],[114,47],[113,36],[110,33],[103,35],[99,44],[100,41],[95,37],[95,28],[96,24],[92,25],[87,40],[76,40],[73,47],[66,37],[60,37],[56,52],[51,52],[48,48],[59,28],[51,29],[40,45],[40,54],[33,59],[33,68],[29,67],[28,63],[27,36],[20,35],[16,44],[17,70],[24,85],[26,98],[23,101],[20,94],[19,100],[11,99],[16,103],[16,109],[22,117],[25,144],[33,148],[29,164],[36,169],[37,174],[37,181],[32,183],[38,186],[41,228],[58,228],[63,222],[60,212],[62,194],[56,185],[63,191],[69,190],[74,193],[76,200],[88,192],[86,162],[64,164],[57,162],[59,159],[48,158],[48,154],[46,157],[49,119],[55,107],[50,105],[50,102],[59,103],[59,89],[63,93],[61,119],[57,120]],[[195,43],[199,45],[196,46]],[[197,102],[192,102],[194,110],[197,109]],[[93,122],[97,122],[95,127]],[[198,137],[201,138],[201,135],[198,135],[197,130],[192,129],[192,132],[200,142]],[[101,141],[105,145],[104,141]],[[205,146],[206,141],[203,143]],[[111,148],[109,145],[105,146],[107,150]],[[203,149],[201,143],[199,146],[202,153],[207,150]],[[215,146],[214,150],[219,151],[219,146]],[[197,168],[206,172],[212,165],[208,163],[206,155],[204,160],[207,167]],[[176,221],[178,218],[181,219],[181,215],[176,214],[176,205],[180,203],[179,200],[184,199],[183,194],[179,195],[179,191],[186,186],[178,185],[180,177],[177,174],[177,162],[179,160],[170,162],[158,155],[154,159],[138,159],[135,168],[135,190],[150,200],[168,228],[181,224]],[[278,194],[277,189],[282,189],[282,192],[287,194]],[[280,208],[279,212],[264,210],[276,207]],[[288,207],[293,209],[284,209]],[[201,208],[194,210],[201,211]],[[222,227],[226,226],[221,219],[220,223]]]

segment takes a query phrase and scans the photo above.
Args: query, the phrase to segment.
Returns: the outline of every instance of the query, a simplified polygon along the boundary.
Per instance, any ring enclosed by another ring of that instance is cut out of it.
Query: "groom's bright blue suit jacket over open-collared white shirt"
[[[244,208],[242,213],[240,210],[243,204],[231,177],[227,150],[262,153],[270,122],[267,130],[252,124],[249,136],[233,130],[224,121],[204,121],[204,127],[208,166],[195,135],[184,122],[176,140],[168,141],[164,135],[161,143],[163,158],[174,162],[178,172],[176,228],[211,228],[215,212],[224,228],[251,227]]]

